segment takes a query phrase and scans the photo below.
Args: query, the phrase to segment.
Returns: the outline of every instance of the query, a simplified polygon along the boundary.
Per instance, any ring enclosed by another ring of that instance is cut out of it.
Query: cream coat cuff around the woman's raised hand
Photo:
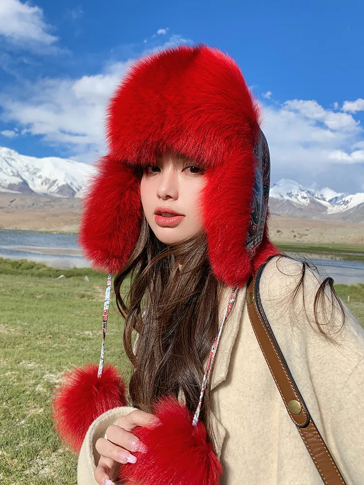
[[[108,426],[117,424],[121,416],[131,413],[134,409],[136,408],[130,406],[110,409],[106,413],[101,414],[88,428],[78,457],[78,485],[98,485],[94,478],[94,470],[99,463],[100,455],[95,449],[95,443],[105,435]]]

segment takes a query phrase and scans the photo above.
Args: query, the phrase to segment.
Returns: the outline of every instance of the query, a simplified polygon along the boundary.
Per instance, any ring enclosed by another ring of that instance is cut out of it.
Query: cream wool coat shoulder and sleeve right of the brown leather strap
[[[302,263],[273,259],[265,271],[266,316],[314,423],[347,484],[364,484],[364,329],[326,285],[316,314],[331,341],[314,321],[325,277],[306,267],[295,295]]]

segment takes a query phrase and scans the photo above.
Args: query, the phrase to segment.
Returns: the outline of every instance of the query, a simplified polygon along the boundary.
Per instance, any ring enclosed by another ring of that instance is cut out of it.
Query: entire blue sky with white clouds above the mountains
[[[364,4],[0,0],[0,146],[87,163],[128,61],[205,42],[264,106],[272,182],[364,192]]]

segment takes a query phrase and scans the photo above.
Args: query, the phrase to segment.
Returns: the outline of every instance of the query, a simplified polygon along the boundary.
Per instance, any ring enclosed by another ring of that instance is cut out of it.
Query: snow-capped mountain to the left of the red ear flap
[[[87,163],[20,155],[0,147],[0,192],[80,197],[94,167]]]

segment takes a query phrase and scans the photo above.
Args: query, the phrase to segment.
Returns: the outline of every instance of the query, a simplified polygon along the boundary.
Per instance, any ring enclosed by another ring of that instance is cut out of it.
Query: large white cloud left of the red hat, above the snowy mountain
[[[0,95],[2,118],[16,122],[22,134],[40,135],[50,145],[67,147],[76,157],[92,157],[104,149],[105,106],[127,65],[117,63],[106,73],[76,80],[39,80],[23,87],[16,97]]]

